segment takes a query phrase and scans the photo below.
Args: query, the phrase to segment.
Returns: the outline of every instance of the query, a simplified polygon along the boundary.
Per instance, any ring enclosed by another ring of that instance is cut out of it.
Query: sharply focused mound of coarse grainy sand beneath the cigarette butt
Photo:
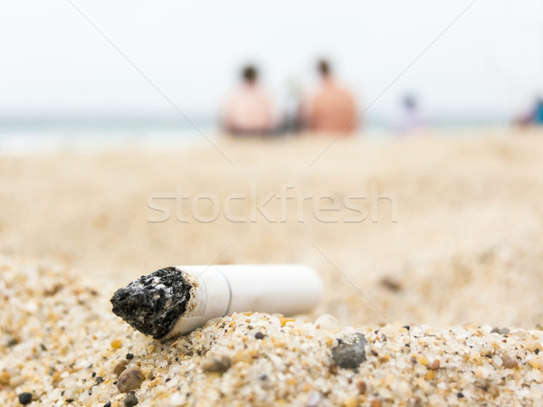
[[[503,405],[543,395],[543,331],[339,327],[245,313],[160,343],[96,285],[2,260],[0,404]],[[363,336],[361,336],[362,334]]]

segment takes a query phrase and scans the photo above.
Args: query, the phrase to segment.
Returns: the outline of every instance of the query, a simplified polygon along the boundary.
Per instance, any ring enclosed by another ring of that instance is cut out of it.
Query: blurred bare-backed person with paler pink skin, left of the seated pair
[[[242,84],[228,99],[224,110],[224,129],[238,136],[270,135],[273,128],[271,102],[258,81],[258,70],[247,65]]]

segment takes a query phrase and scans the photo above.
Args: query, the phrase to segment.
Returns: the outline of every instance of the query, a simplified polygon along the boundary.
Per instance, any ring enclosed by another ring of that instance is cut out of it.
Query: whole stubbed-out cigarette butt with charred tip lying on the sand
[[[322,295],[322,281],[300,264],[176,266],[118,289],[113,312],[155,337],[185,335],[233,312],[302,314]]]

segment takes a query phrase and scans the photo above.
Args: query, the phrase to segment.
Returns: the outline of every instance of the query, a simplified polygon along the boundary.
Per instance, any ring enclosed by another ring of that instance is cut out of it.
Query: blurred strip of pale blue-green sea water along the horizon
[[[504,126],[496,118],[437,118],[431,128],[456,130]],[[394,126],[385,118],[367,118],[364,137],[386,137]],[[100,153],[112,150],[167,152],[214,142],[220,137],[214,118],[171,117],[0,117],[0,156]],[[206,140],[206,138],[208,140]]]

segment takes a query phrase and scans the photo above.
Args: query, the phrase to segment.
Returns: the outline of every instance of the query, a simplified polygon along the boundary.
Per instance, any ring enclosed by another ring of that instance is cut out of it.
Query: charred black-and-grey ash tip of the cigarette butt
[[[191,287],[175,267],[160,269],[118,289],[110,299],[113,313],[138,331],[159,339],[185,312]]]

